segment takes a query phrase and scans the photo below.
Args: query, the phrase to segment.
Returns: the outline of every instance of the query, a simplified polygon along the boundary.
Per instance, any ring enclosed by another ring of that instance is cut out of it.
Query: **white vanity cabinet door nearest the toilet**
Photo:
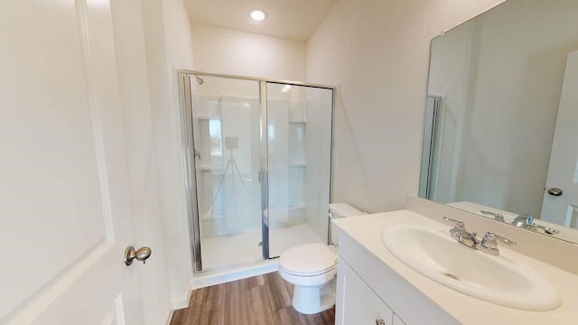
[[[340,258],[337,268],[337,325],[392,325],[394,313]],[[403,323],[400,323],[403,324]]]

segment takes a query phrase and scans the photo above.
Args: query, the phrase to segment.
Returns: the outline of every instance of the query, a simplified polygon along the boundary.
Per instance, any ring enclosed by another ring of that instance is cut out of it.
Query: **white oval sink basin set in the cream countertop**
[[[446,230],[413,225],[386,228],[381,240],[407,266],[458,292],[524,311],[562,304],[555,287],[513,254],[488,255],[463,246]]]

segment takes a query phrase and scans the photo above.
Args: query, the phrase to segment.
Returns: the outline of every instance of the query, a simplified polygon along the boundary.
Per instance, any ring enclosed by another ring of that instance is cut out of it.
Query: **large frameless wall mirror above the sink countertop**
[[[425,119],[420,197],[578,243],[578,1],[434,38]]]

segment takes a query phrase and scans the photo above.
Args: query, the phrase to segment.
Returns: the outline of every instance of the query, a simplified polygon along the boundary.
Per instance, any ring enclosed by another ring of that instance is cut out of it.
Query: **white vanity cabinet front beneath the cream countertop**
[[[333,222],[340,226],[348,221]],[[378,242],[372,246],[385,249],[375,237]],[[335,324],[460,323],[342,228],[339,238]]]

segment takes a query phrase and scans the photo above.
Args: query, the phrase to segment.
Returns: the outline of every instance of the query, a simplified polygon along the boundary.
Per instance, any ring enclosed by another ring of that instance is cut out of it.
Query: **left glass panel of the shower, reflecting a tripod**
[[[189,78],[202,269],[262,260],[259,82]]]

